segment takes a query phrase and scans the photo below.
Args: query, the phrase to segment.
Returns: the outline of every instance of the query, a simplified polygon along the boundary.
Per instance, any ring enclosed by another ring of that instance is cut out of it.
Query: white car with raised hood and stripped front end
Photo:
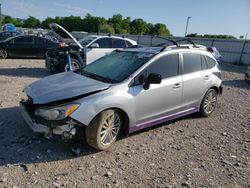
[[[115,49],[137,45],[137,43],[131,39],[116,36],[90,35],[77,41],[60,25],[53,23],[50,24],[50,27],[61,36],[61,38],[71,38],[74,41],[70,44],[48,50],[45,65],[50,72],[65,72],[68,70],[66,52],[71,56],[73,69],[79,69]]]

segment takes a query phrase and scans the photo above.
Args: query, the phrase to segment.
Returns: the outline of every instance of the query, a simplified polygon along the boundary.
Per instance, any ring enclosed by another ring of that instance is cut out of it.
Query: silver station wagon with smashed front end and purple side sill
[[[222,93],[218,63],[205,47],[174,44],[116,50],[78,72],[38,80],[24,89],[22,115],[47,136],[71,138],[82,127],[98,150],[121,132],[195,112],[209,116]]]

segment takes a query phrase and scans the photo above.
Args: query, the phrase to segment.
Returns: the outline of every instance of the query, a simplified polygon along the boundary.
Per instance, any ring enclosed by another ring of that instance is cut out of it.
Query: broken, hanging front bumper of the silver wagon
[[[76,124],[73,121],[66,121],[61,125],[50,122],[44,123],[32,117],[23,102],[20,102],[20,111],[25,122],[34,132],[42,133],[48,138],[52,137],[52,135],[61,135],[64,139],[69,139],[76,134]]]

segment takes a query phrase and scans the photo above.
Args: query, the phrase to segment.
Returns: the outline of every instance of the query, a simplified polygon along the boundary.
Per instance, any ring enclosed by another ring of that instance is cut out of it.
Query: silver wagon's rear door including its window
[[[182,53],[183,60],[183,105],[185,108],[199,107],[200,101],[209,89],[212,72],[206,59],[197,53]]]

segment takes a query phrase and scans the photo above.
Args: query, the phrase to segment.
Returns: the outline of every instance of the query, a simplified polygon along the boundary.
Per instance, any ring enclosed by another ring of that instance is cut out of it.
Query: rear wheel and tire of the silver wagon
[[[200,105],[200,114],[204,117],[208,117],[214,111],[217,104],[218,93],[214,89],[209,89]]]

